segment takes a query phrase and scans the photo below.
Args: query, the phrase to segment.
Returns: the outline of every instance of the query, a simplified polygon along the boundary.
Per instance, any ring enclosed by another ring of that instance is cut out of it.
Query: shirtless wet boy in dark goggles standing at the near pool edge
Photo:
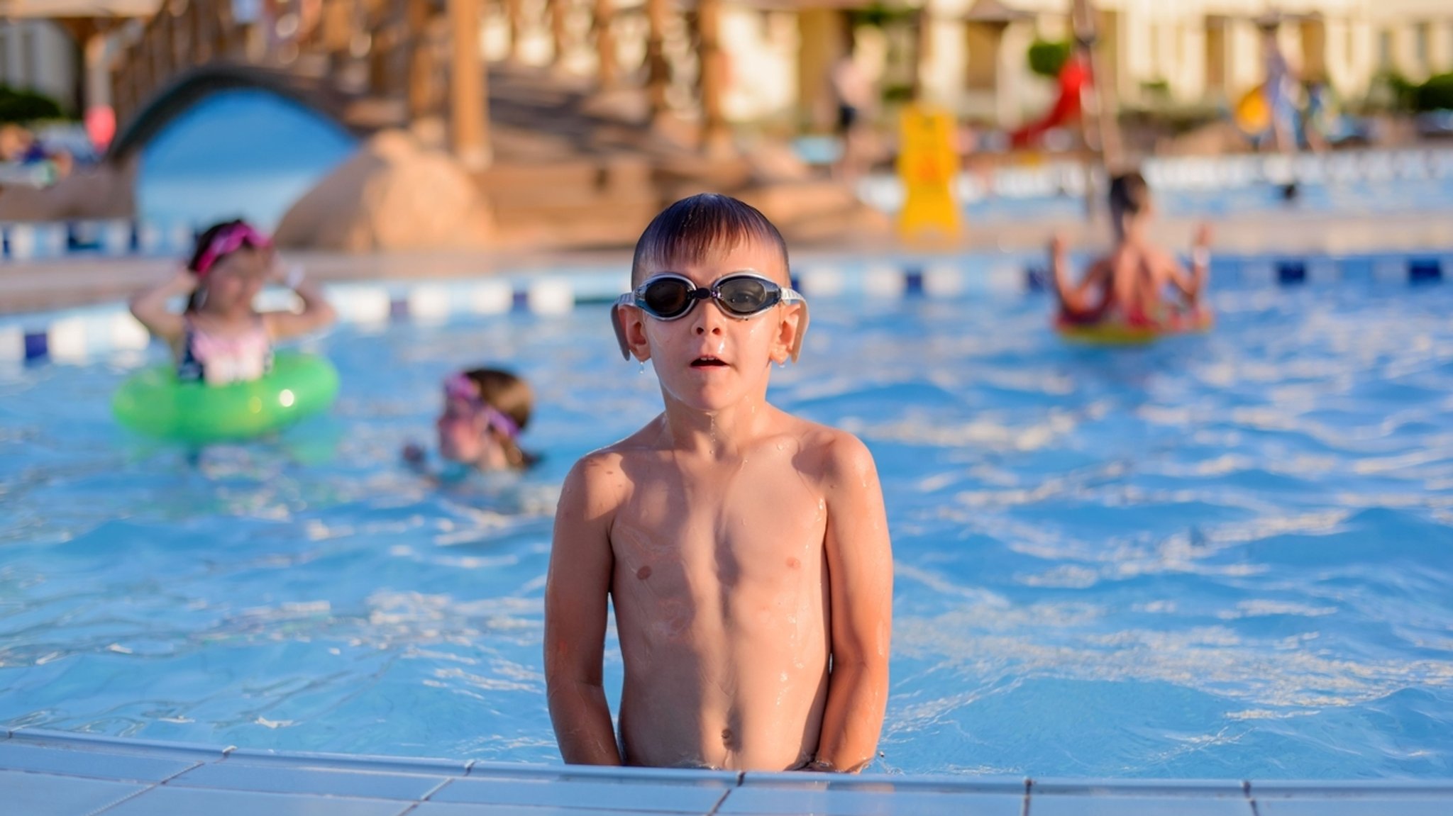
[[[647,227],[612,319],[665,409],[565,478],[545,682],[567,762],[857,771],[888,698],[892,552],[853,434],[767,402],[806,302],[760,212],[699,195]],[[625,664],[619,743],[606,603]]]

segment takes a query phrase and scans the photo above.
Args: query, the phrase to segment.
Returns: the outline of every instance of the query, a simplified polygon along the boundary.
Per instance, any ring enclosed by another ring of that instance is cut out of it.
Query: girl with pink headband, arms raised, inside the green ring
[[[254,309],[267,283],[292,289],[302,311]],[[183,295],[186,309],[167,311],[167,302]],[[304,280],[302,269],[285,272],[272,240],[246,221],[202,232],[186,269],[132,299],[131,314],[171,347],[179,380],[214,386],[260,379],[272,367],[275,341],[334,321],[333,306]]]

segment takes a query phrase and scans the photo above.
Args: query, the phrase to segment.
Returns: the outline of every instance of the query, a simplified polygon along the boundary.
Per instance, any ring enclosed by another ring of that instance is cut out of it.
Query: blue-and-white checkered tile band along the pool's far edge
[[[1088,258],[1077,257],[1077,267]],[[1189,263],[1189,258],[1184,258]],[[1453,277],[1453,251],[1359,256],[1212,256],[1210,280],[1250,286],[1308,286],[1341,282],[1430,285]],[[792,272],[808,298],[998,298],[1045,292],[1051,276],[1042,256],[958,256],[894,263],[806,263]],[[330,283],[339,322],[365,330],[389,322],[442,324],[461,317],[565,315],[581,303],[606,303],[631,285],[623,269],[551,272],[475,280]],[[269,289],[259,308],[296,308],[296,296]],[[180,301],[174,303],[180,308]],[[84,363],[145,350],[151,337],[112,303],[58,312],[0,317],[0,362]]]

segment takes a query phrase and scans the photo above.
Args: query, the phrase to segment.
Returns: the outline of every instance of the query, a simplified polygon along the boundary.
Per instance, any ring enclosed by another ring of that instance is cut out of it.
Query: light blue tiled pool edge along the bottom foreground
[[[347,756],[22,729],[16,816],[1443,816],[1450,781],[1033,780],[774,774]]]

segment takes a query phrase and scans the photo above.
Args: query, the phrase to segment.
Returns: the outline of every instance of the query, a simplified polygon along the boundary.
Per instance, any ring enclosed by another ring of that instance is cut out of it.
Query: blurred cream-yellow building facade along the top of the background
[[[170,7],[196,3],[176,0]],[[397,6],[389,12],[395,17],[410,7],[410,0],[352,3],[384,12]],[[1026,54],[1036,39],[1069,38],[1071,3],[721,0],[713,3],[725,64],[721,113],[737,123],[825,128],[834,116],[828,73],[851,54],[889,96],[917,96],[960,116],[1014,126],[1052,102],[1053,84],[1030,71]],[[126,4],[128,13],[139,15],[160,3],[0,0],[0,81],[46,93],[71,110],[81,96],[105,102],[108,94],[94,90],[103,80],[93,81],[89,93],[80,90],[87,74],[83,44],[62,26],[19,16],[22,7],[29,16],[77,4]],[[331,0],[231,0],[230,6],[234,19],[273,7],[296,7],[302,17],[350,7]],[[648,70],[648,0],[488,0],[479,6],[478,45],[487,61],[549,65],[581,76],[594,76],[609,64],[612,83],[629,83]],[[683,0],[668,6],[663,51],[671,78],[665,94],[670,107],[692,112],[700,106],[700,61],[689,19],[706,4]],[[1276,20],[1293,70],[1302,78],[1329,83],[1344,99],[1364,96],[1380,74],[1417,81],[1453,71],[1453,0],[1094,0],[1093,6],[1101,68],[1125,106],[1237,99],[1261,81],[1258,25],[1268,20]],[[6,13],[16,17],[6,19]],[[607,20],[609,36],[600,36],[600,20]],[[350,48],[356,42],[357,36],[352,38]],[[602,48],[610,51],[610,60],[602,60]],[[90,73],[105,73],[102,62],[109,60],[97,51]]]

